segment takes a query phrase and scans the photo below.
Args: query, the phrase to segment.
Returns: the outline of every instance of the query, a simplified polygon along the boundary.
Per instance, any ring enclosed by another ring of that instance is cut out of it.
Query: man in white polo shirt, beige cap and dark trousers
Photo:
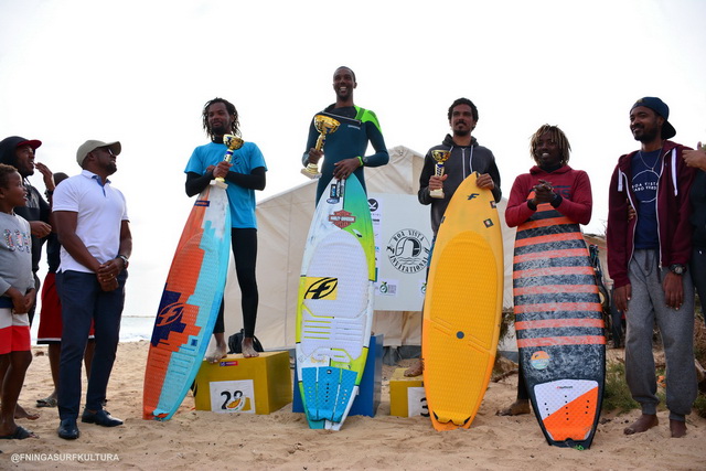
[[[125,196],[110,185],[120,142],[88,140],[78,148],[83,169],[54,191],[54,221],[62,244],[56,288],[62,301],[58,436],[81,435],[81,365],[90,322],[95,325],[95,355],[82,421],[103,427],[122,425],[103,408],[115,362],[125,302],[125,281],[132,236]]]

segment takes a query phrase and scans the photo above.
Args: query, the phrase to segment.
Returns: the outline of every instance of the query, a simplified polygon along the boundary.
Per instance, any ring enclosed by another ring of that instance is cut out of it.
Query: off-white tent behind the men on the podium
[[[388,213],[403,218],[407,226],[418,227],[419,231],[428,234],[430,240],[429,207],[416,202],[422,164],[422,154],[404,146],[397,146],[389,149],[387,165],[365,169],[365,184],[368,196],[378,195],[387,201]],[[292,180],[297,179],[303,179],[303,176],[292,175]],[[505,194],[509,193],[511,184],[512,182],[504,182]],[[291,349],[295,345],[299,272],[309,224],[314,212],[315,188],[315,181],[307,181],[257,204],[259,309],[255,334],[267,350]],[[503,199],[499,204],[505,251],[503,304],[510,308],[512,307],[512,247],[515,236],[514,229],[505,225],[505,206],[506,200]],[[378,243],[378,265],[382,265],[385,258],[384,245],[384,242]],[[418,274],[421,280],[424,280],[424,272],[421,270]],[[378,274],[378,281],[379,279]],[[376,296],[376,306],[377,298]],[[403,302],[403,298],[407,302]],[[410,297],[403,298],[397,298],[399,303],[408,304]],[[411,298],[415,301],[415,297]],[[373,331],[385,335],[386,346],[420,344],[421,298],[419,297],[418,308],[415,310],[396,309],[393,300],[392,309],[375,311]],[[243,323],[240,290],[233,267],[229,270],[225,299],[227,336],[239,331]],[[385,302],[388,300],[382,299],[382,303],[389,304]],[[387,308],[391,306],[386,306]]]

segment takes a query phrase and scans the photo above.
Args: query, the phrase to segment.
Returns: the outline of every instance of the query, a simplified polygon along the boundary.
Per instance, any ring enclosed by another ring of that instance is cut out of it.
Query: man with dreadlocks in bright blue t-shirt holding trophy
[[[233,152],[231,162],[223,157],[227,147],[224,135],[240,136],[238,113],[235,106],[223,98],[214,98],[203,107],[203,129],[211,142],[194,149],[186,164],[186,194],[201,193],[216,178],[224,178],[228,184],[227,195],[231,206],[231,235],[235,272],[242,293],[243,309],[243,355],[258,356],[255,351],[255,321],[257,319],[258,291],[255,278],[257,261],[257,222],[255,218],[255,190],[265,189],[267,167],[263,152],[254,142],[245,142]],[[206,354],[206,360],[216,363],[226,355],[223,301],[213,329],[215,349]]]

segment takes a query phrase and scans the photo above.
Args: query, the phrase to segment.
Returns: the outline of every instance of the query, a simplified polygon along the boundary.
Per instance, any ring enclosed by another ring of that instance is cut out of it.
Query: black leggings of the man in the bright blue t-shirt
[[[257,320],[257,280],[255,278],[255,265],[257,261],[257,229],[231,229],[231,245],[235,260],[235,274],[240,287],[240,308],[243,309],[243,329],[246,338],[255,336],[255,321]],[[216,318],[213,333],[224,333],[223,301]]]

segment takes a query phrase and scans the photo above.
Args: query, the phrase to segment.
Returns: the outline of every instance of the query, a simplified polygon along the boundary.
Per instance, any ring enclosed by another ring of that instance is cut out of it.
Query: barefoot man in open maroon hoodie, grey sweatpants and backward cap
[[[691,255],[689,188],[694,169],[682,159],[670,108],[660,98],[639,99],[630,130],[640,150],[621,156],[610,182],[608,270],[614,302],[625,312],[625,379],[642,415],[624,429],[639,433],[657,425],[652,355],[656,322],[666,358],[666,407],[672,437],[686,435],[685,416],[696,399],[694,288]],[[629,216],[633,207],[635,216]]]

